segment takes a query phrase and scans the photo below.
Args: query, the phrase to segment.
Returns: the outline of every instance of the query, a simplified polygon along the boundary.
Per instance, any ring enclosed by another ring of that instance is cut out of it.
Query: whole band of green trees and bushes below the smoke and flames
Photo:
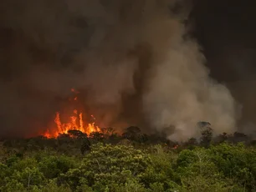
[[[4,140],[1,191],[256,191],[256,149],[244,134],[201,139],[178,146],[131,127],[79,131],[58,139]]]

